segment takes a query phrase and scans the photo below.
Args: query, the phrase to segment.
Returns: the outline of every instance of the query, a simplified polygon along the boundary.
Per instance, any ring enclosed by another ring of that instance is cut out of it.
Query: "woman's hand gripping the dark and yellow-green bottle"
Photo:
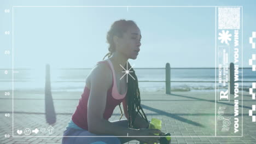
[[[154,134],[161,134],[161,130],[159,129],[138,129],[136,136],[145,136],[145,137],[135,137],[137,141],[146,142],[148,144],[154,144],[154,142],[159,142],[160,137]],[[156,137],[149,137],[156,136]]]

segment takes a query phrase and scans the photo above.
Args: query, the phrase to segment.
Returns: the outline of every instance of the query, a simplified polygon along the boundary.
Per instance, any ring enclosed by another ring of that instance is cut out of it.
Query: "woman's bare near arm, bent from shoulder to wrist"
[[[111,87],[112,73],[107,65],[98,64],[91,73],[91,88],[88,100],[88,130],[95,134],[134,136],[138,130],[120,127],[103,118],[106,107],[107,91]]]

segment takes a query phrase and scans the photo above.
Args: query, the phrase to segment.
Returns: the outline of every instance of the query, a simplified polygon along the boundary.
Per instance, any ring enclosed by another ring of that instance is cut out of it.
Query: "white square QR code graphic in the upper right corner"
[[[218,8],[219,29],[240,29],[240,8]]]

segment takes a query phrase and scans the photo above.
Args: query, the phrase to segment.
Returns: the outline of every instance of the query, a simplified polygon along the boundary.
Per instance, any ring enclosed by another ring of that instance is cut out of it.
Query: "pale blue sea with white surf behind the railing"
[[[0,90],[44,91],[45,69],[1,69]],[[91,69],[50,69],[51,91],[83,92]],[[238,81],[256,82],[256,71],[239,69]],[[14,73],[11,73],[14,72]],[[6,74],[7,73],[7,74]],[[141,92],[165,91],[165,69],[136,69]],[[126,76],[123,77],[126,79]],[[171,91],[215,91],[218,85],[216,69],[171,69]],[[174,81],[174,82],[173,82]],[[181,82],[186,81],[186,82]],[[196,82],[193,82],[196,81]],[[217,82],[216,82],[217,81]],[[248,91],[252,82],[239,82]]]

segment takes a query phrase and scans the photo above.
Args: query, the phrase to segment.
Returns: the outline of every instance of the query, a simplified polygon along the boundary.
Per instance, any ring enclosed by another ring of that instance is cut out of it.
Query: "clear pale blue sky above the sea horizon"
[[[29,5],[242,6],[243,67],[249,67],[248,59],[255,53],[249,44],[252,31],[256,31],[255,4],[256,1],[1,1],[0,68],[37,69],[46,63],[54,68],[92,68],[108,52],[106,34],[120,19],[133,20],[141,29],[141,51],[136,60],[129,60],[135,68],[163,68],[167,62],[173,68],[216,66],[214,7],[13,7]],[[3,13],[12,8],[9,14]],[[10,35],[4,35],[7,29]],[[4,55],[5,50],[10,50],[9,56]]]

